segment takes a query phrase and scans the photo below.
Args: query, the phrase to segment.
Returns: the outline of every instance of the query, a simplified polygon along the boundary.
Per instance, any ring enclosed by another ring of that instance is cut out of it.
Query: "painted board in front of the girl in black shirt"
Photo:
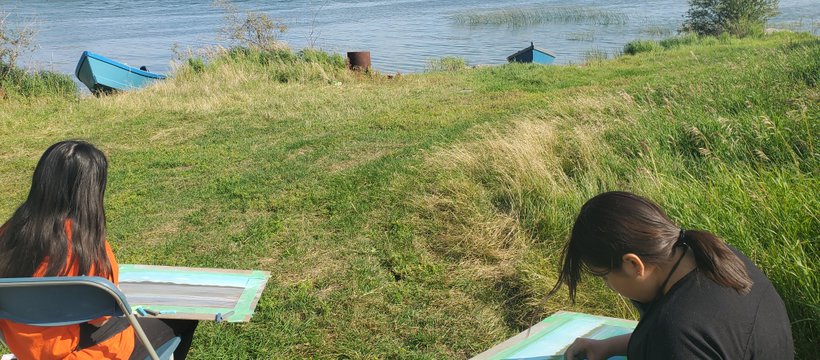
[[[567,347],[576,338],[606,339],[628,334],[637,324],[632,320],[559,311],[529,330],[475,356],[473,360],[563,359]],[[626,358],[610,358],[613,359]]]

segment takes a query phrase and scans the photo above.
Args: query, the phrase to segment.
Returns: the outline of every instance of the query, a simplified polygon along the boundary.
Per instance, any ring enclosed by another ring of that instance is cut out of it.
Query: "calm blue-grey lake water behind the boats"
[[[636,38],[671,34],[683,19],[684,0],[638,1],[485,1],[485,0],[245,0],[243,10],[263,11],[288,25],[282,40],[300,49],[315,47],[344,53],[368,50],[383,72],[417,72],[427,61],[459,56],[471,65],[504,63],[507,55],[528,46],[552,50],[558,63],[578,63],[590,52],[619,51]],[[452,18],[465,11],[511,7],[572,6],[616,11],[623,25],[542,24],[531,27],[466,26]],[[781,0],[774,23],[818,33],[816,0]],[[0,0],[11,22],[32,19],[39,48],[22,62],[29,67],[73,73],[83,50],[132,66],[167,72],[175,44],[181,48],[224,44],[217,29],[224,12],[210,1]],[[658,34],[658,33],[661,34]],[[664,33],[666,32],[666,33]]]

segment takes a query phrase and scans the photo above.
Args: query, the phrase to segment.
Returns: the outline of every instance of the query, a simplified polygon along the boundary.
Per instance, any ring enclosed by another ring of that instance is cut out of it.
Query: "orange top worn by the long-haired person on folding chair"
[[[68,239],[67,276],[79,275],[78,264],[71,254],[71,222],[66,220],[66,239]],[[105,242],[105,252],[111,262],[111,280],[119,283],[119,265],[108,242]],[[34,277],[41,277],[46,271],[47,261],[40,264]],[[91,274],[95,271],[92,268]],[[55,299],[55,301],[59,301]],[[90,323],[102,325],[106,318],[100,318]],[[134,351],[134,328],[128,327],[110,339],[80,351],[74,351],[80,342],[80,326],[40,327],[18,324],[8,320],[0,320],[0,331],[6,338],[6,344],[18,359],[128,359]]]

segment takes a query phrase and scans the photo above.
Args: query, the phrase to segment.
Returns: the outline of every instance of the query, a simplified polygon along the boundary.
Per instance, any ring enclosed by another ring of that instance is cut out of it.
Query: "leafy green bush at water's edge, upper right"
[[[778,14],[779,0],[689,0],[682,31],[743,37],[762,31]]]

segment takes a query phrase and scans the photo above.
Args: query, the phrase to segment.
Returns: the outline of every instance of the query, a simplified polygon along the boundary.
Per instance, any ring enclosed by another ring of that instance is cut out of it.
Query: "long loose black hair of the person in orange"
[[[68,275],[69,251],[79,275],[109,277],[103,197],[108,160],[84,141],[50,146],[34,170],[28,198],[0,230],[0,277]],[[71,224],[71,249],[66,234]]]

